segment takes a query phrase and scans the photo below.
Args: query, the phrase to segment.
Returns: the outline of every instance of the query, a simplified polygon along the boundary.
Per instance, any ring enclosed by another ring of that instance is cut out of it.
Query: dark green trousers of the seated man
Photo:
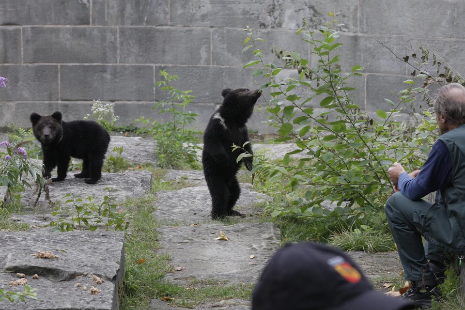
[[[424,200],[412,201],[402,193],[393,194],[386,202],[387,223],[404,270],[404,278],[409,281],[433,279],[434,274],[429,260],[443,262],[447,254],[438,246],[421,241],[421,215],[428,213],[433,203]]]

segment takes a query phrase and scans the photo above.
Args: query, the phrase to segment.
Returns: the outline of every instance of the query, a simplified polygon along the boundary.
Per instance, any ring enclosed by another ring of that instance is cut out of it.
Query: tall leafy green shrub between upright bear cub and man
[[[430,76],[416,70],[412,79],[404,81],[407,88],[398,93],[398,102],[385,99],[391,106],[389,111],[378,109],[376,116],[371,117],[351,99],[355,88],[350,87],[350,79],[360,76],[363,67],[355,65],[348,72],[342,70],[337,54],[342,47],[335,29],[337,14],[329,15],[333,20],[319,31],[310,30],[304,19],[305,27],[296,33],[305,32],[303,40],[311,45],[312,57],[318,59],[315,69],[301,54],[276,50],[284,68],[296,69],[296,78],[278,79],[282,68],[263,61],[258,44],[264,40],[255,38],[252,29],[245,29],[248,36],[244,44],[251,44],[243,51],[252,49],[256,59],[244,68],[258,66],[253,76],[270,80],[260,86],[271,95],[271,100],[265,99],[267,106],[263,111],[269,116],[267,123],[278,129],[281,138],[276,142],[295,144],[295,150],[282,160],[264,160],[252,171],[261,171],[269,184],[285,180],[285,188],[291,191],[285,201],[268,203],[266,210],[272,217],[324,217],[327,221],[339,221],[382,210],[393,192],[387,169],[394,162],[407,169],[419,169],[434,142],[436,122],[431,113],[424,111],[420,115],[414,109],[416,96],[426,93],[428,86],[415,84]],[[418,68],[425,64],[418,63]],[[301,97],[298,93],[312,95]],[[319,102],[320,109],[309,107],[310,100]],[[409,113],[414,124],[397,121],[401,112]],[[290,155],[298,153],[305,157],[295,163]],[[338,207],[329,210],[322,206],[325,201],[337,202]]]

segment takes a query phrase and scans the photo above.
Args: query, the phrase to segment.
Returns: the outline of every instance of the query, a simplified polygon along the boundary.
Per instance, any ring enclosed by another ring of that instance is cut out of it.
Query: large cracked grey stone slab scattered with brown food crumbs
[[[40,299],[27,304],[2,302],[1,309],[117,309],[118,283],[124,275],[124,232],[0,232],[0,244],[0,288],[23,291],[22,286],[10,287],[9,282],[19,279],[17,272],[24,273]],[[38,250],[52,251],[58,258],[31,256]],[[105,282],[94,284],[91,273]],[[39,279],[32,279],[34,274]],[[100,293],[92,295],[91,286]]]

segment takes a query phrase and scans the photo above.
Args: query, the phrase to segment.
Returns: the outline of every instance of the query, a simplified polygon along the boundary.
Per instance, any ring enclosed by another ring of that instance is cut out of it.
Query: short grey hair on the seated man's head
[[[437,91],[434,113],[444,115],[452,124],[465,123],[465,87],[459,83],[444,85]]]

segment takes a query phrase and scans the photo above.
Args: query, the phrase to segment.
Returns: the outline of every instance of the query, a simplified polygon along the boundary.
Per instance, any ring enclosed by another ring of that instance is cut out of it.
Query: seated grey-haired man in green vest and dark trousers
[[[385,208],[405,279],[412,282],[403,298],[422,309],[431,307],[432,296],[439,294],[445,251],[465,253],[465,87],[441,87],[434,113],[441,136],[420,171],[407,174],[398,163],[389,168],[396,193]],[[436,190],[435,203],[421,200]]]

